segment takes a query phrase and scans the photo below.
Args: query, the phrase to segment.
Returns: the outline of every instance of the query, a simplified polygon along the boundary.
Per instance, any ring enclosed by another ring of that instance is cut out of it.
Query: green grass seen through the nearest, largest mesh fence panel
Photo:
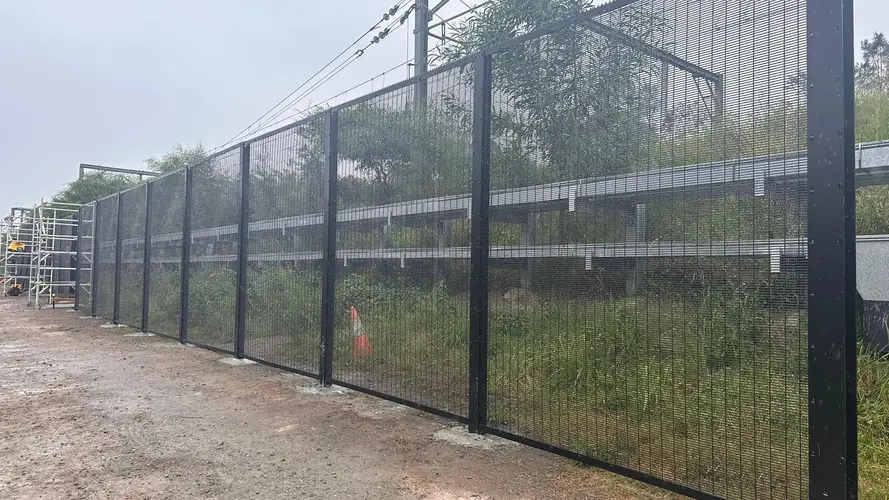
[[[799,326],[793,349],[770,341],[769,320],[786,317],[720,297],[501,304],[502,315],[513,319],[492,322],[489,361],[498,426],[720,495],[800,492],[793,353],[805,342]]]

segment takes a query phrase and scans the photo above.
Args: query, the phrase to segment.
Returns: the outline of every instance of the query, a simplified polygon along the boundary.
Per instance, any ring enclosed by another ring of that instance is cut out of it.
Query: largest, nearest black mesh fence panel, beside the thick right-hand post
[[[803,1],[654,0],[493,56],[492,427],[807,496],[804,34]]]

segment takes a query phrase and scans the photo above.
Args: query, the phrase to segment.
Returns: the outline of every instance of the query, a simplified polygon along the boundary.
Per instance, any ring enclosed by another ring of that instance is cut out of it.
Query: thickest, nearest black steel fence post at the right
[[[807,4],[809,498],[857,498],[852,1]]]

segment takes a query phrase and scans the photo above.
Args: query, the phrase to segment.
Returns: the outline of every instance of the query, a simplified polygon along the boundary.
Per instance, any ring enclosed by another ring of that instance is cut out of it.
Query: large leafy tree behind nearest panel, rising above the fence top
[[[590,0],[496,0],[476,11],[440,49],[453,61],[593,6]],[[612,15],[613,14],[613,15]],[[645,162],[656,132],[660,62],[623,41],[663,47],[665,23],[624,9],[528,40],[494,56],[495,187],[626,173]],[[509,164],[498,159],[509,158]],[[535,165],[532,166],[532,165]],[[521,166],[522,172],[510,171]]]

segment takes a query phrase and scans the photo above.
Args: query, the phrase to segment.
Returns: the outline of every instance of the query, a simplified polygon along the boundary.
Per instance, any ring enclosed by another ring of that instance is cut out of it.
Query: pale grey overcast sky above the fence
[[[0,0],[0,212],[51,197],[81,162],[141,169],[176,143],[228,141],[397,1]],[[312,101],[405,62],[411,28]],[[886,1],[856,0],[855,30],[889,31]]]

